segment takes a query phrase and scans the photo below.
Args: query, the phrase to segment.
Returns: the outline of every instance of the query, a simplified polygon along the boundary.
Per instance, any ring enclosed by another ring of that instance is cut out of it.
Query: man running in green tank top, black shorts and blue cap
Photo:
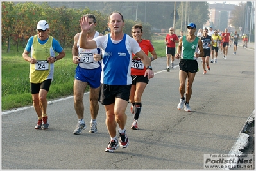
[[[176,59],[180,59],[180,103],[178,103],[178,110],[184,108],[185,111],[191,112],[189,101],[192,95],[192,84],[194,77],[198,71],[198,57],[203,56],[203,46],[200,38],[195,36],[196,24],[189,23],[187,25],[187,35],[180,38],[178,43],[178,52],[175,54]],[[198,53],[200,51],[200,53]],[[187,83],[186,83],[187,80]],[[185,93],[185,85],[187,85],[187,91]],[[186,94],[186,98],[184,96]]]

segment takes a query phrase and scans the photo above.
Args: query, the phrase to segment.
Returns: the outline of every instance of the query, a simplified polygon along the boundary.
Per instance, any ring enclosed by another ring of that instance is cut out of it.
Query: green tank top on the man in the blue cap
[[[198,53],[198,37],[194,39],[193,42],[188,42],[186,36],[182,38],[182,59],[188,60],[196,60],[197,58],[194,57],[194,53]]]

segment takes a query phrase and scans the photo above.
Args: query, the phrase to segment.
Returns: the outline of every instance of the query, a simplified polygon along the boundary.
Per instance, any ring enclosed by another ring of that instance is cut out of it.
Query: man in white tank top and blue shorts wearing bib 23
[[[85,15],[89,19],[89,23],[93,26],[87,32],[87,40],[92,40],[98,36],[102,36],[101,33],[95,31],[96,18],[92,14]],[[99,111],[99,90],[100,90],[100,77],[101,77],[101,50],[95,49],[83,49],[79,47],[80,33],[74,36],[74,45],[72,48],[73,63],[77,64],[76,74],[74,78],[74,110],[78,116],[78,124],[74,130],[74,134],[78,135],[87,126],[83,119],[83,94],[87,85],[90,86],[90,130],[89,133],[97,133],[96,118]],[[97,60],[97,61],[96,61]]]

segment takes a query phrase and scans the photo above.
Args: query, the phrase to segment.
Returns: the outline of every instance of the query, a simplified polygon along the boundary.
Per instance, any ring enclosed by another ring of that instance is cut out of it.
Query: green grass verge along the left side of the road
[[[166,57],[164,38],[155,38],[152,44],[158,57]],[[24,48],[19,48],[19,52],[16,51],[12,49],[7,53],[6,48],[2,47],[2,110],[33,105],[29,81],[30,63],[22,57]],[[72,63],[71,50],[65,50],[65,53],[65,57],[55,63],[53,82],[47,100],[73,95],[76,65]]]

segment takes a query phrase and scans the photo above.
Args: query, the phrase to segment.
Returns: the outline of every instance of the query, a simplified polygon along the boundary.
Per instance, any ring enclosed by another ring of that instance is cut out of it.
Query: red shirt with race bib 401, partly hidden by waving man
[[[150,40],[144,40],[139,43],[141,50],[148,56],[148,52],[153,52],[154,47],[151,44]],[[142,63],[141,59],[137,57],[135,54],[132,54],[132,68],[131,75],[144,75],[146,71],[146,67]]]

